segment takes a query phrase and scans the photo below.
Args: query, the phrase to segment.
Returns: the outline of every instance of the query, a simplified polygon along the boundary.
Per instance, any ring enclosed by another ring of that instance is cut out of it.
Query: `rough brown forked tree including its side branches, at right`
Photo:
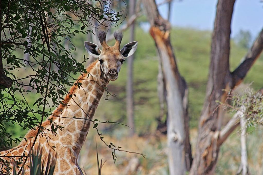
[[[242,82],[263,48],[262,30],[244,61],[230,72],[230,25],[234,3],[235,0],[219,0],[217,4],[206,98],[199,120],[196,154],[190,174],[214,174],[219,148],[237,126],[231,120],[220,131],[223,110],[218,107],[218,101],[224,102],[227,92]]]

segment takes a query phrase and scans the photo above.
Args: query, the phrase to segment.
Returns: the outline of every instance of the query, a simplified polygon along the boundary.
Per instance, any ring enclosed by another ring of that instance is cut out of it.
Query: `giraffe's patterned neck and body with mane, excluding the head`
[[[65,171],[64,174],[73,174],[71,171],[76,171],[74,167],[78,167],[81,172],[77,158],[80,149],[88,134],[91,120],[94,116],[95,110],[98,106],[99,100],[103,95],[105,87],[109,81],[103,77],[105,75],[100,72],[99,61],[94,61],[87,69],[88,74],[84,74],[80,77],[80,88],[78,86],[70,89],[71,94],[67,95],[63,104],[61,104],[49,117],[57,125],[62,126],[62,130],[58,130],[54,135],[51,131],[50,120],[43,122],[42,126],[46,129],[45,134],[40,134],[34,145],[34,149],[39,146],[44,150],[42,153],[42,161],[47,161],[45,158],[50,155],[57,155],[57,163],[55,172]],[[66,104],[66,105],[64,105]],[[36,136],[36,130],[30,130],[22,142],[10,150],[0,152],[1,155],[21,156],[25,153],[29,153],[30,145],[32,145],[34,137]],[[5,158],[8,162],[11,162],[11,158]],[[14,158],[18,160],[18,157]],[[27,160],[27,165],[29,161]],[[1,168],[1,167],[0,167]],[[29,169],[27,168],[27,173]]]

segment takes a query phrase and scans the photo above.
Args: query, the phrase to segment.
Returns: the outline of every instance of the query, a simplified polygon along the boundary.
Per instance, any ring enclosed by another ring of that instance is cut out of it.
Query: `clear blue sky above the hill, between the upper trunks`
[[[156,0],[156,3],[165,0]],[[217,0],[174,0],[171,9],[172,25],[213,30]],[[168,5],[159,6],[160,14],[167,18]],[[236,0],[231,24],[231,37],[248,30],[255,38],[263,27],[263,2]]]

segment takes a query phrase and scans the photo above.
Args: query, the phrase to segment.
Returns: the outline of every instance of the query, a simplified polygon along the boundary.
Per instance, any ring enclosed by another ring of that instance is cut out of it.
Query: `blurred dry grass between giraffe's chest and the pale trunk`
[[[145,158],[141,155],[136,155],[127,152],[116,151],[117,160],[114,164],[112,159],[112,150],[98,141],[99,159],[106,160],[102,174],[156,174],[161,169],[167,169],[166,161],[166,137],[148,136],[148,137],[123,137],[117,139],[116,137],[104,136],[107,143],[112,142],[115,146],[122,147],[123,150],[144,153]],[[82,155],[80,158],[80,166],[85,169],[87,174],[97,173],[97,157],[95,148],[95,138],[92,142],[87,141],[83,146]],[[87,149],[89,149],[88,154]],[[92,151],[91,151],[92,150]],[[133,171],[133,173],[131,173]],[[161,171],[162,172],[162,171]],[[164,173],[160,173],[164,174]]]

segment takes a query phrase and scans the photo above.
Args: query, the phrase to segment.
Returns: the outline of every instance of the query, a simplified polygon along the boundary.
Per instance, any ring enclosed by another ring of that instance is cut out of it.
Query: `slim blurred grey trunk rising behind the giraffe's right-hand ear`
[[[129,1],[129,17],[135,14],[135,0]],[[132,23],[130,26],[130,42],[134,41],[134,29],[135,23]],[[134,55],[131,55],[127,58],[127,86],[126,86],[126,94],[127,94],[127,117],[128,117],[128,125],[132,128],[130,130],[130,136],[133,136],[135,133],[135,125],[134,125],[134,106],[133,106],[133,60]]]

